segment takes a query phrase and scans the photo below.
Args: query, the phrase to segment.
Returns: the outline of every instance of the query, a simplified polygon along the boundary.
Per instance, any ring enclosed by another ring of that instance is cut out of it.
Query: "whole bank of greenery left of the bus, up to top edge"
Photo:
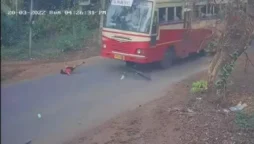
[[[60,15],[10,14],[11,11],[30,11],[30,0],[1,1],[1,58],[2,60],[51,59],[69,51],[96,47],[99,15]],[[98,10],[83,7],[83,11]],[[34,0],[34,10],[80,10],[81,6],[71,0],[51,2]],[[32,29],[31,56],[29,56],[29,28]],[[97,46],[98,48],[98,46]],[[93,49],[96,50],[96,49]]]

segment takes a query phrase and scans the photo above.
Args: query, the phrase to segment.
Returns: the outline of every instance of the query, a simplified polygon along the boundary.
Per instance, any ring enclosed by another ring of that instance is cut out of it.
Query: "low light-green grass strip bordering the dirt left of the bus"
[[[73,35],[62,33],[50,38],[43,38],[32,43],[32,57],[38,59],[57,58],[67,51],[80,50],[87,45],[87,41],[94,30],[82,29]],[[20,42],[11,47],[1,46],[2,60],[26,60],[29,59],[28,41]]]

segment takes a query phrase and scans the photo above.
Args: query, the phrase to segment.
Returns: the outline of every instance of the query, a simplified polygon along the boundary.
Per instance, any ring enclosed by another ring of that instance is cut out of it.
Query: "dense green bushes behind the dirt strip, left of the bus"
[[[72,8],[75,10],[76,8]],[[51,58],[85,47],[99,27],[99,15],[44,15],[34,18],[32,24],[32,57]],[[27,59],[29,24],[25,18],[2,17],[2,59]],[[18,26],[17,29],[13,27]]]

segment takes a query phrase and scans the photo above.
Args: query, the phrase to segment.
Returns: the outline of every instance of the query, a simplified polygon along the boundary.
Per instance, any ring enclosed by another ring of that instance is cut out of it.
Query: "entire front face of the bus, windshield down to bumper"
[[[149,63],[153,2],[112,0],[102,29],[103,57]]]

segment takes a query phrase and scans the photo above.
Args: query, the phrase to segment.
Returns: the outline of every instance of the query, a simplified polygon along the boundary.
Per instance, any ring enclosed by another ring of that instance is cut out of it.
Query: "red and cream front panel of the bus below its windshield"
[[[147,56],[140,56],[136,54],[137,49],[144,50],[144,55],[147,55],[147,50],[150,45],[149,36],[137,36],[126,34],[124,32],[110,32],[109,30],[102,32],[102,47],[101,55],[115,59],[115,55],[122,55],[119,60],[133,61],[137,63],[148,63]],[[112,38],[114,37],[114,38]],[[131,41],[119,41],[115,39],[120,37],[124,39],[130,39]]]

